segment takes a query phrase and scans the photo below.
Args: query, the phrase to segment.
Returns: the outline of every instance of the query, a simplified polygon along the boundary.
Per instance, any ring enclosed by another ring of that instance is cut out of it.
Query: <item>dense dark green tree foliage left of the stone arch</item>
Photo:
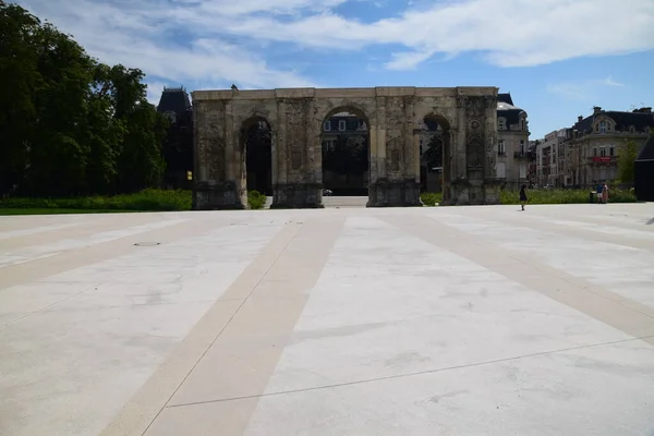
[[[0,0],[0,195],[72,196],[159,184],[166,120],[144,74]]]

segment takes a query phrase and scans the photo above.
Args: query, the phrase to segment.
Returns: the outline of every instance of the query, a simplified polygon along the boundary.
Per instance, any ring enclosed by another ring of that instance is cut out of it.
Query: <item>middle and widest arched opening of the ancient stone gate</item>
[[[370,123],[362,110],[342,106],[329,111],[320,126],[325,195],[367,196]]]

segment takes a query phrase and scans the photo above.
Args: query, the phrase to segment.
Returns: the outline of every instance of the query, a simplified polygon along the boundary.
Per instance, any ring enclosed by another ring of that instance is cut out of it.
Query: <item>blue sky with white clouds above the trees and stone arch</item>
[[[531,138],[654,106],[654,0],[20,0],[148,99],[276,87],[497,86]]]

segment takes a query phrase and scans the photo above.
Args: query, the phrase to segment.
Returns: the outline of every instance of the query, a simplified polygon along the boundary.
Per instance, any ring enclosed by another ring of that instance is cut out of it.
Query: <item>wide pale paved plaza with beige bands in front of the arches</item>
[[[654,434],[654,205],[0,217],[0,434]]]

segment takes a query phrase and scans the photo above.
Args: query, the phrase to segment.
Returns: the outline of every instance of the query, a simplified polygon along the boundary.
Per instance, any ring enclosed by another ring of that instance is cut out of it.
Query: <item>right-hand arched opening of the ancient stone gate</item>
[[[420,182],[422,192],[441,193],[449,201],[451,129],[437,113],[422,119],[420,130]]]

